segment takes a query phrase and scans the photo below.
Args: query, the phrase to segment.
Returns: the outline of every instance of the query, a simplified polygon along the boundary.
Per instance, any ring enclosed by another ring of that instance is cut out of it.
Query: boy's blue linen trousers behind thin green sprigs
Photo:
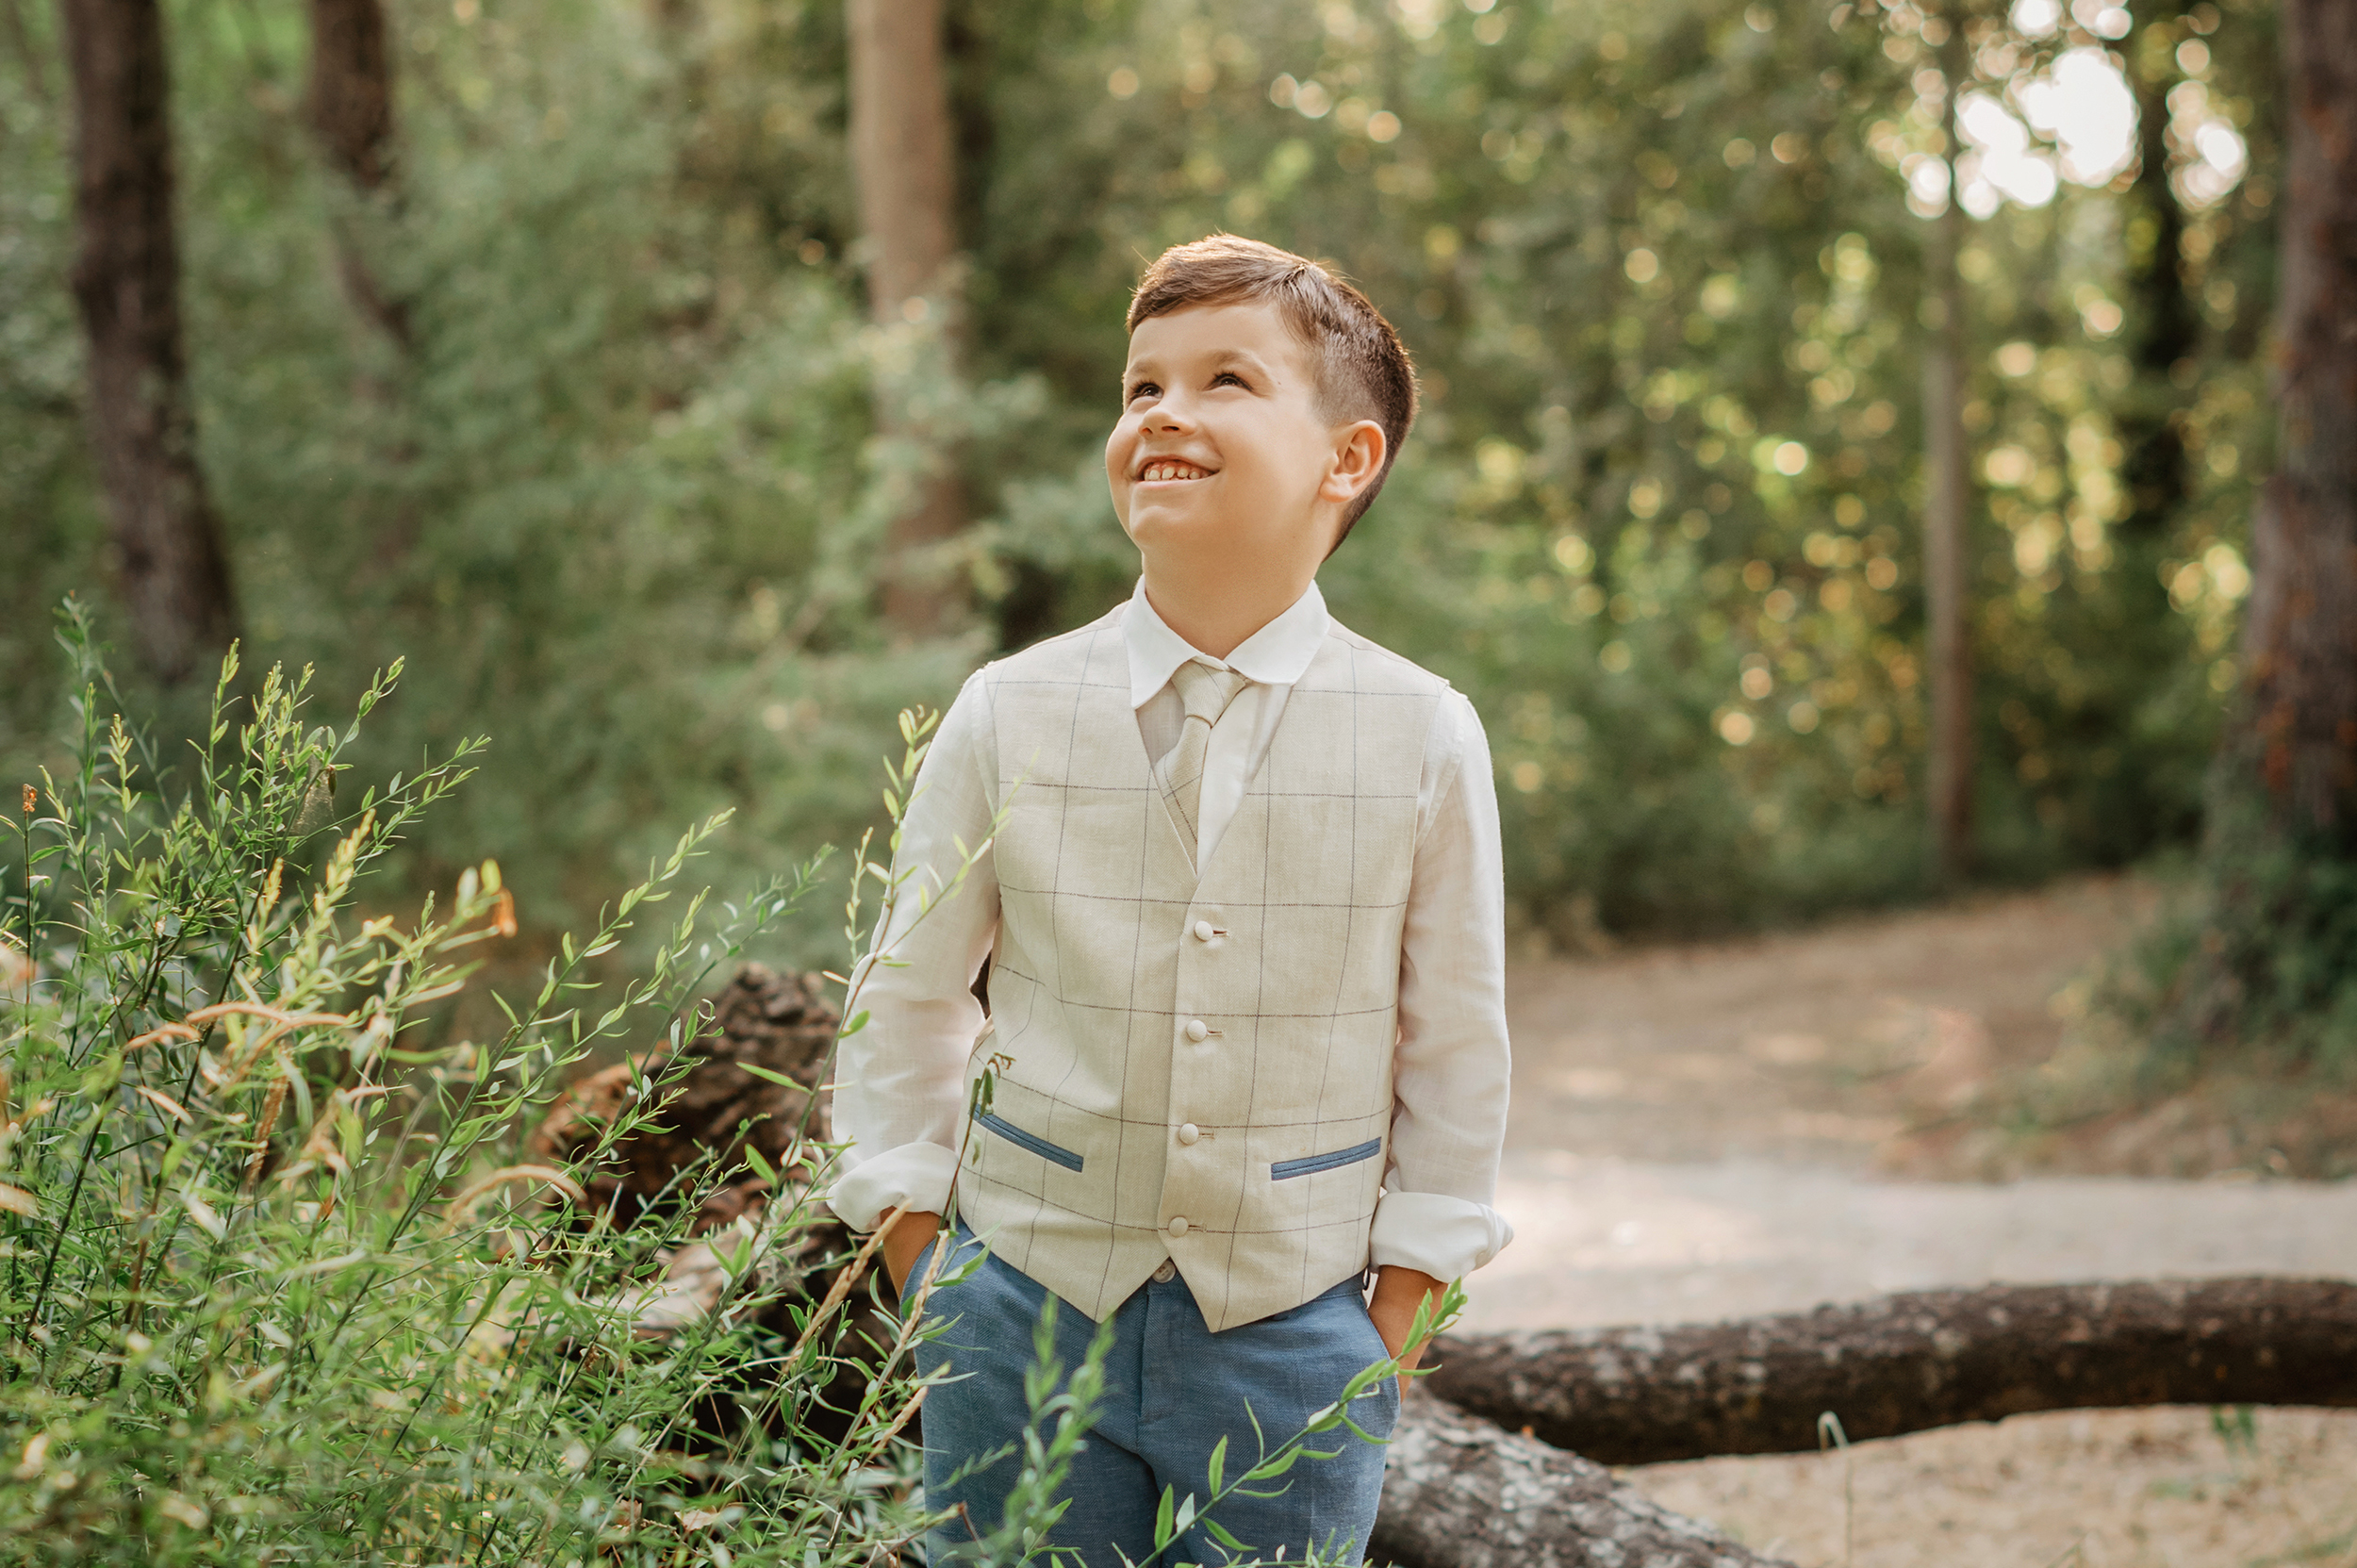
[[[936,1247],[938,1240],[917,1257],[910,1280],[924,1278]],[[933,1563],[952,1563],[962,1544],[1006,1518],[1030,1419],[1023,1372],[1037,1353],[1032,1337],[1049,1297],[1044,1285],[990,1257],[964,1226],[940,1273],[976,1254],[981,1266],[969,1278],[936,1285],[924,1304],[929,1318],[950,1323],[924,1344],[919,1365],[929,1372],[948,1365],[957,1375],[957,1382],[936,1384],[924,1396],[926,1507],[959,1509],[926,1542]],[[1273,1452],[1341,1398],[1351,1377],[1388,1356],[1360,1290],[1362,1276],[1353,1273],[1292,1311],[1214,1335],[1178,1271],[1157,1271],[1113,1313],[1105,1401],[1058,1493],[1070,1507],[1049,1533],[1049,1544],[1087,1568],[1122,1568],[1122,1556],[1146,1563],[1155,1549],[1155,1509],[1164,1485],[1202,1507],[1211,1495],[1211,1448],[1221,1438],[1228,1438],[1226,1478],[1233,1483],[1254,1467],[1263,1438]],[[1077,1309],[1056,1304],[1056,1358],[1065,1377],[1087,1356],[1096,1327]],[[1351,1419],[1376,1438],[1391,1436],[1398,1415],[1400,1384],[1393,1377],[1376,1382],[1351,1408]],[[1252,1417],[1259,1417],[1259,1434]],[[1011,1455],[976,1474],[957,1474],[973,1455],[1006,1443],[1014,1443]],[[1303,1547],[1318,1544],[1355,1563],[1384,1495],[1384,1448],[1348,1427],[1315,1434],[1308,1448],[1339,1452],[1329,1460],[1303,1457],[1282,1478],[1252,1483],[1252,1490],[1282,1488],[1277,1497],[1233,1495],[1211,1516],[1263,1559],[1285,1549],[1285,1559],[1299,1561]],[[1226,1563],[1230,1556],[1197,1523],[1153,1568]]]

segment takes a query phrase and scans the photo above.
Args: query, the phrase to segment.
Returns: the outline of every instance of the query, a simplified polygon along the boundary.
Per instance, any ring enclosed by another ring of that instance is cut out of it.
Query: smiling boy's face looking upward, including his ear
[[[1301,568],[1334,547],[1372,420],[1318,413],[1310,354],[1273,304],[1195,304],[1129,337],[1122,420],[1105,441],[1113,509],[1146,556]]]

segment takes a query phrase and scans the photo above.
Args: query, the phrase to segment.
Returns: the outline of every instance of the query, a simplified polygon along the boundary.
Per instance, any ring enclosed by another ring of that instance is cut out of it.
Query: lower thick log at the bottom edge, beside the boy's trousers
[[[1775,1568],[1593,1460],[1468,1417],[1421,1389],[1384,1455],[1369,1561],[1400,1568]]]

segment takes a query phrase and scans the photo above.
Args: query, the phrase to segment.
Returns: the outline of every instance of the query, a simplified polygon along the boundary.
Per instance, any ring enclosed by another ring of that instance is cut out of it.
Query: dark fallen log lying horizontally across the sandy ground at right
[[[1605,1464],[2126,1405],[2357,1405],[2357,1285],[2201,1280],[1926,1290],[1681,1327],[1442,1339],[1435,1396]]]

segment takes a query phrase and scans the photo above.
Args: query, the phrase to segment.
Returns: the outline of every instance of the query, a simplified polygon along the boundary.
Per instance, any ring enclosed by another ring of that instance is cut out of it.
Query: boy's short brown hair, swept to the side
[[[1384,427],[1384,467],[1343,514],[1334,535],[1339,549],[1374,505],[1407,427],[1417,422],[1417,368],[1384,311],[1329,266],[1235,233],[1211,233],[1157,255],[1129,297],[1129,330],[1190,304],[1237,299],[1275,304],[1294,337],[1313,349],[1318,408],[1327,420],[1374,420]]]

